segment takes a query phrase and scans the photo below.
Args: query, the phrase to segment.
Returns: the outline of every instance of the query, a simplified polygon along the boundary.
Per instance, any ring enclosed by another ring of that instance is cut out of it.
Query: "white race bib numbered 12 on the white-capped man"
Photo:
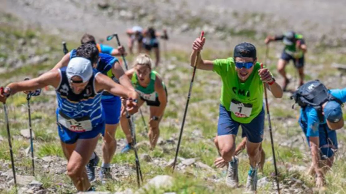
[[[68,118],[66,115],[58,114],[58,123],[68,128],[72,132],[87,132],[92,130],[89,117],[78,119]]]

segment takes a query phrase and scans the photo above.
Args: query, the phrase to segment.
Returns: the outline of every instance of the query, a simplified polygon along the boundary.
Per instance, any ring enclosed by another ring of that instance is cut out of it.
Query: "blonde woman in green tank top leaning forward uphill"
[[[146,102],[150,107],[148,137],[150,147],[154,149],[160,136],[159,124],[167,105],[166,86],[161,76],[152,70],[152,60],[147,54],[137,56],[134,67],[126,71],[126,75],[131,79],[134,88],[139,93],[140,100],[137,106],[140,107]],[[127,142],[131,144],[130,126],[125,114],[121,115],[120,124],[126,134]],[[130,146],[128,145],[127,147]]]

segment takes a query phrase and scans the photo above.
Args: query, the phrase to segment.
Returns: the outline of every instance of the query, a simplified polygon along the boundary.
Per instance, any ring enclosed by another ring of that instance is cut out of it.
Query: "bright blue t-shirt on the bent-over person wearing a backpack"
[[[338,98],[343,103],[346,102],[346,88],[343,89],[331,89],[328,90],[329,93],[334,96],[335,98]],[[303,122],[307,125],[306,133],[307,137],[318,137],[319,136],[319,125],[326,123],[326,118],[324,118],[324,122],[320,123],[320,120],[317,115],[317,111],[315,108],[308,106],[303,109],[300,109],[300,122]]]

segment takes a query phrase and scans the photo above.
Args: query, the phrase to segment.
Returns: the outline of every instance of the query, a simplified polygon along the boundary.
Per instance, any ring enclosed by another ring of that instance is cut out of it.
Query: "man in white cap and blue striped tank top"
[[[98,51],[90,59],[75,57],[65,68],[55,69],[26,81],[11,83],[0,94],[0,101],[19,91],[33,91],[45,86],[56,88],[58,108],[57,125],[62,149],[70,176],[78,191],[93,188],[85,173],[85,165],[93,153],[99,134],[104,128],[104,113],[101,106],[103,90],[127,99],[130,114],[138,110],[133,91],[112,81],[92,68],[98,60]]]

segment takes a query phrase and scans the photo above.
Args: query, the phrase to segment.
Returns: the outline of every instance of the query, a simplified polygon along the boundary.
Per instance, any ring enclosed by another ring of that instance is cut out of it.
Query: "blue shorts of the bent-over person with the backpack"
[[[304,122],[299,122],[300,127],[303,129],[304,134],[306,135],[307,132],[307,124]],[[328,133],[328,140],[326,136],[326,132],[324,127],[326,127],[327,133]],[[321,159],[327,159],[334,155],[333,149],[338,148],[338,140],[336,137],[336,131],[330,130],[326,124],[319,125],[318,128],[318,136],[320,140],[320,157]],[[308,141],[308,145],[310,147],[309,137],[306,136],[306,140]]]

